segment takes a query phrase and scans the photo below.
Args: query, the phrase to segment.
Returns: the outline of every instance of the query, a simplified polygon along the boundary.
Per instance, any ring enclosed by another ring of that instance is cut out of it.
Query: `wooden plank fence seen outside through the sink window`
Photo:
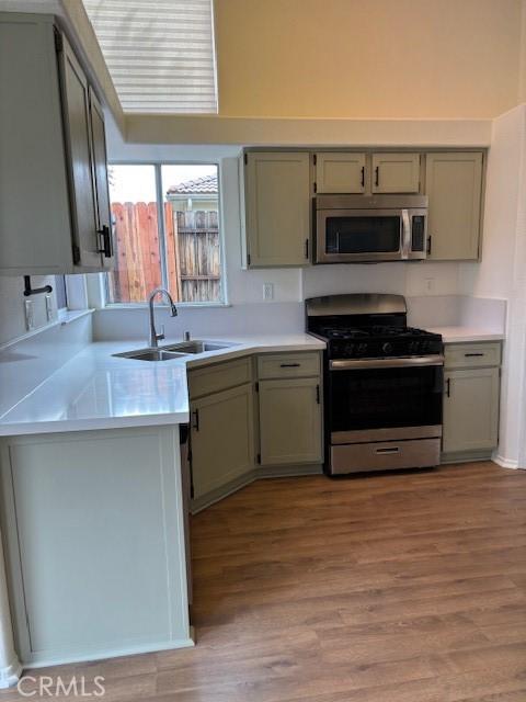
[[[115,270],[110,299],[141,303],[162,284],[157,203],[112,203]],[[164,203],[168,287],[174,301],[220,299],[217,211],[178,212]]]

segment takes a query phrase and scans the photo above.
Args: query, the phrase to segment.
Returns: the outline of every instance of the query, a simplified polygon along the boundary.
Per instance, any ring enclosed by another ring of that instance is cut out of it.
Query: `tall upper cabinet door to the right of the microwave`
[[[482,154],[427,154],[430,259],[478,258],[481,190]]]

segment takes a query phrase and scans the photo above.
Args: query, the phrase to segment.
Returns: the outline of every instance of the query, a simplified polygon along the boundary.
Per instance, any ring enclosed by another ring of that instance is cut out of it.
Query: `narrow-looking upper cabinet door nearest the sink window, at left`
[[[90,87],[90,123],[93,156],[93,182],[95,186],[96,230],[105,269],[113,268],[112,213],[110,210],[110,190],[107,184],[106,134],[104,112]]]

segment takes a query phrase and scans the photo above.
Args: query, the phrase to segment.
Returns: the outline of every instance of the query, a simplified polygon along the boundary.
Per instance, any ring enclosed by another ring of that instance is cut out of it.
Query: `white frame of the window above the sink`
[[[164,225],[164,215],[162,211],[162,205],[164,204],[164,194],[162,192],[162,166],[215,166],[217,168],[217,203],[218,203],[218,222],[219,222],[219,260],[221,264],[221,278],[220,278],[220,292],[221,299],[216,302],[176,302],[175,305],[178,307],[229,307],[230,304],[228,302],[228,286],[227,286],[227,265],[226,265],[226,252],[225,252],[225,219],[222,214],[224,207],[224,199],[222,199],[222,176],[221,176],[221,161],[217,158],[210,158],[206,160],[193,160],[193,159],[184,159],[184,160],[159,160],[159,159],[111,159],[107,161],[107,166],[152,166],[155,178],[156,178],[156,197],[157,197],[157,212],[158,212],[158,223],[159,225],[159,237],[160,237],[160,258],[161,258],[161,280],[162,285],[167,286],[167,238],[165,238],[165,225]],[[110,197],[111,204],[111,197]],[[108,273],[111,271],[106,271],[102,273],[102,303],[104,309],[144,309],[148,306],[148,302],[144,303],[112,303],[110,302],[110,282],[108,282]],[[156,303],[156,306],[168,308],[168,303],[164,298],[159,299]]]

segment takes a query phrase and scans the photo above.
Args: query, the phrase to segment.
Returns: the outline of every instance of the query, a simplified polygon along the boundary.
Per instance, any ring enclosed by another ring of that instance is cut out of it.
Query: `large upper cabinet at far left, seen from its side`
[[[0,67],[0,273],[110,268],[104,116],[82,66],[52,16],[1,13]]]

